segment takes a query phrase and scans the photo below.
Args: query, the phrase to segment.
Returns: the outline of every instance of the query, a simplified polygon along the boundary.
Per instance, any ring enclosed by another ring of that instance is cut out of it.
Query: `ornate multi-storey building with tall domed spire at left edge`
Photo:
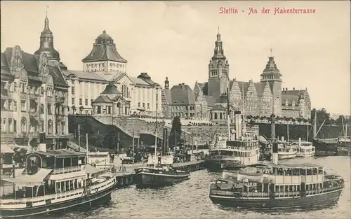
[[[68,85],[62,69],[48,17],[34,54],[19,45],[1,52],[2,143],[35,145],[39,133],[46,133],[49,147],[67,144]]]

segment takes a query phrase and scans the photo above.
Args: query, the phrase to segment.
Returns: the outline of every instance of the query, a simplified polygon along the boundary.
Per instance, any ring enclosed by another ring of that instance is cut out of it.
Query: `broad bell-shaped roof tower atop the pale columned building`
[[[105,30],[95,39],[93,49],[81,62],[83,71],[94,71],[105,80],[126,72],[127,61],[119,55],[113,38]]]

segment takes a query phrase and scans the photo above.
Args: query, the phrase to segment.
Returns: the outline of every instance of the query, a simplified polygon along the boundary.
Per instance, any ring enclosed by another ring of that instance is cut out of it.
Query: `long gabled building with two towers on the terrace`
[[[180,116],[225,121],[227,99],[230,99],[232,112],[239,110],[252,116],[269,117],[274,114],[286,118],[310,119],[311,101],[307,88],[282,88],[282,73],[277,68],[274,57],[268,58],[257,83],[253,80],[230,80],[229,73],[230,64],[224,55],[223,41],[218,33],[213,57],[208,64],[208,82],[196,82],[193,90],[184,84],[175,85],[170,89],[166,78],[162,91],[162,110],[166,118]],[[192,106],[194,112],[183,113],[182,110],[186,111]]]

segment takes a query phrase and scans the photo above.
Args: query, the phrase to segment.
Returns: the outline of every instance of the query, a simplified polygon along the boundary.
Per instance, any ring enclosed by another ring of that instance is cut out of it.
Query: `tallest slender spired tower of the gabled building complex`
[[[208,64],[208,95],[218,99],[227,92],[229,83],[229,63],[224,55],[223,42],[218,30],[213,57]]]

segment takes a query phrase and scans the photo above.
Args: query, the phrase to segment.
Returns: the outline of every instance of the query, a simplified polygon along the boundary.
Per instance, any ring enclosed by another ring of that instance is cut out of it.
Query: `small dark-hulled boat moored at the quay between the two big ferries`
[[[185,181],[189,176],[189,171],[173,169],[173,155],[150,155],[147,167],[135,169],[134,181],[139,188],[157,188]]]

